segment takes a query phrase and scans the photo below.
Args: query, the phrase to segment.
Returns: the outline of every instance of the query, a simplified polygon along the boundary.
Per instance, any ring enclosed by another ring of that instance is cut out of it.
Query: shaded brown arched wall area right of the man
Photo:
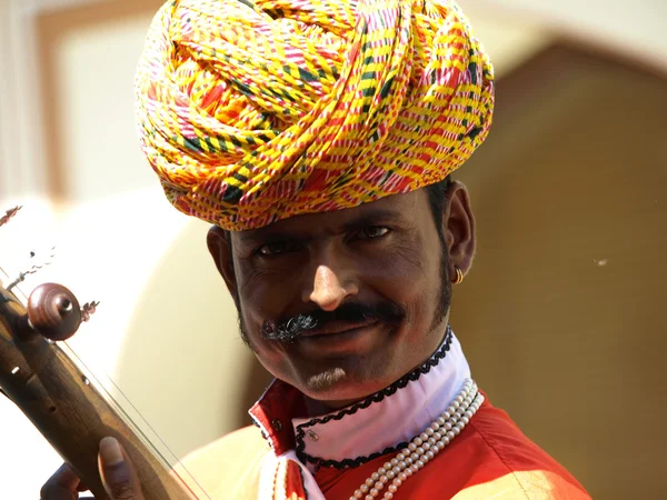
[[[452,323],[472,372],[594,498],[665,498],[667,82],[563,50],[498,98],[459,174],[479,248]]]

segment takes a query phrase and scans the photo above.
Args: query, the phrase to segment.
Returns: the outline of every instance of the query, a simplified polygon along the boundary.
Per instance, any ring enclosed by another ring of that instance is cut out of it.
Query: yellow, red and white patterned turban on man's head
[[[236,231],[438,182],[494,108],[489,59],[449,0],[172,0],[136,84],[169,201]]]

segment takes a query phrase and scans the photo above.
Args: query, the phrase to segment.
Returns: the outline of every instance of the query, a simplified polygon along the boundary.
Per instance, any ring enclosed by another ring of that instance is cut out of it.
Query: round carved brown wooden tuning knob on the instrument
[[[67,340],[81,324],[81,308],[74,294],[62,284],[44,283],[28,299],[30,326],[50,340]]]

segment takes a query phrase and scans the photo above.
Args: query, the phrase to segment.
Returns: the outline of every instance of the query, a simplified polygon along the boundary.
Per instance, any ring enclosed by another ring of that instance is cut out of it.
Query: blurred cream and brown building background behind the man
[[[160,4],[0,0],[0,210],[23,206],[0,267],[56,246],[24,290],[101,301],[70,347],[182,458],[248,423],[269,378],[207,224],[139,151],[133,74]],[[460,4],[498,82],[458,173],[479,248],[452,326],[474,377],[594,498],[667,498],[667,2]],[[33,500],[60,459],[3,398],[0,423],[0,499]]]

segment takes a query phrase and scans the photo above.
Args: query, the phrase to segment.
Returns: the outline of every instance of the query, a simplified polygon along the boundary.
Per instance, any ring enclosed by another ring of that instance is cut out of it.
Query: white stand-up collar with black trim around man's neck
[[[296,454],[315,471],[357,467],[399,451],[445,411],[468,378],[468,361],[448,329],[428,361],[388,388],[332,413],[291,419]]]

